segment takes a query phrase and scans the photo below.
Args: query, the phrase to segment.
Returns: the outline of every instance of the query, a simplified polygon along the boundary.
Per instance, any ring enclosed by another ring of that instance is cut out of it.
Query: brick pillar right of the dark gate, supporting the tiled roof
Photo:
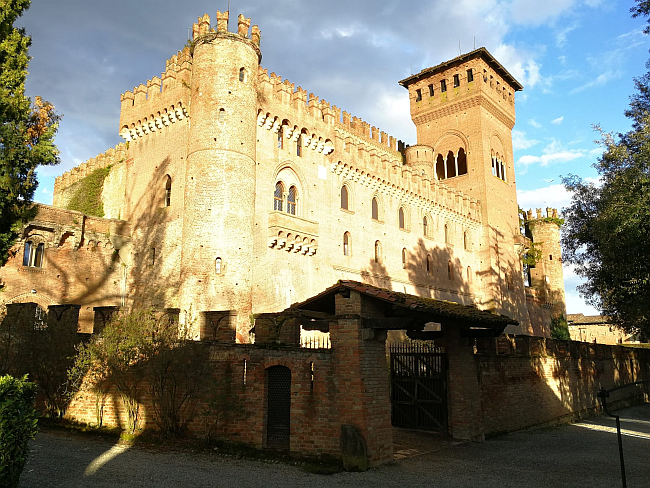
[[[444,325],[445,352],[449,362],[449,430],[455,439],[485,440],[481,395],[469,339],[460,337],[458,328]]]

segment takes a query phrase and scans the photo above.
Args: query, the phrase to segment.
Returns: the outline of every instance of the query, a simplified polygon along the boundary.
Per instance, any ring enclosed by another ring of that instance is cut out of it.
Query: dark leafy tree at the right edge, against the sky
[[[650,15],[650,0],[632,8]],[[650,25],[645,29],[650,33]],[[648,65],[650,68],[650,65]],[[564,209],[564,259],[586,278],[578,289],[588,303],[630,332],[650,333],[650,73],[635,80],[627,117],[633,129],[610,134],[596,127],[604,147],[594,164],[600,181],[569,175],[573,192]]]

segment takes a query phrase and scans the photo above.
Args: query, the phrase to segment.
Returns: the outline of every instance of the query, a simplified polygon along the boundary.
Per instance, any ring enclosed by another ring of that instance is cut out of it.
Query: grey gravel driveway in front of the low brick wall
[[[650,404],[619,414],[628,486],[650,486]],[[285,464],[128,449],[41,432],[31,444],[21,487],[621,486],[615,423],[605,416],[482,443],[401,432],[396,451],[403,459],[366,473],[323,476]]]

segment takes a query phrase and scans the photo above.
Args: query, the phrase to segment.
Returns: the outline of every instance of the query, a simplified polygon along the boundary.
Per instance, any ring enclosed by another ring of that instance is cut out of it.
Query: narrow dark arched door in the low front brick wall
[[[266,372],[266,447],[289,450],[291,370],[285,366],[272,366]]]

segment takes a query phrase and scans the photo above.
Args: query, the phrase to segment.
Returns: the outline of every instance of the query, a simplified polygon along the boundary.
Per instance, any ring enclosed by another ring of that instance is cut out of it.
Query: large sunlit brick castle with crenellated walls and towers
[[[259,28],[228,17],[199,18],[160,77],[121,95],[125,142],[56,179],[0,270],[5,304],[74,304],[85,332],[120,307],[191,310],[197,338],[249,342],[254,314],[350,279],[548,335],[565,309],[557,212],[529,213],[522,235],[522,86],[486,49],[399,82],[405,145],[269,74]]]

